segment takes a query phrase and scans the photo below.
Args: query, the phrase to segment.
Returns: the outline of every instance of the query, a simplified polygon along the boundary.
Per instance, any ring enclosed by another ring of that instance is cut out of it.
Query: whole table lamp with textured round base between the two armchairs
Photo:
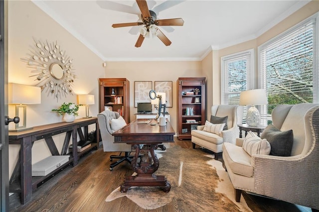
[[[267,104],[268,101],[264,89],[255,89],[240,93],[239,105],[251,106],[246,114],[246,123],[249,126],[258,126],[260,124],[260,113],[255,106]]]

